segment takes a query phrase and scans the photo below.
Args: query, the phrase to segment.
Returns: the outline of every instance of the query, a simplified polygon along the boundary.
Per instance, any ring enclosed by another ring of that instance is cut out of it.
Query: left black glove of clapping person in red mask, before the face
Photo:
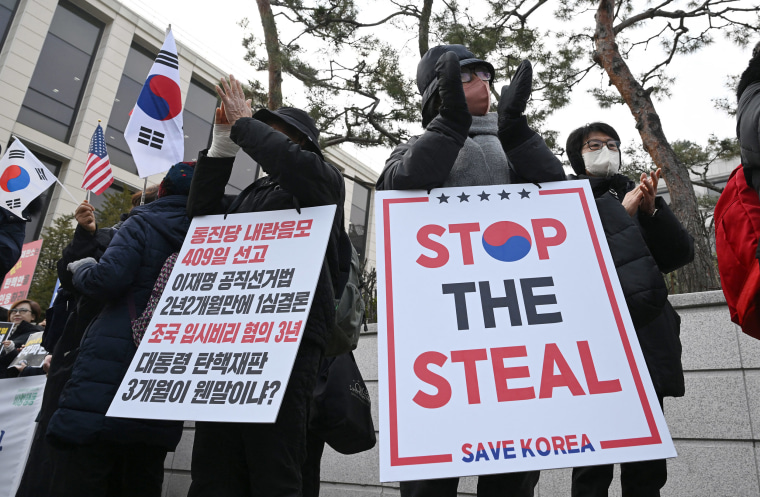
[[[457,54],[446,52],[441,55],[435,63],[435,73],[438,76],[438,94],[441,97],[438,113],[457,131],[467,134],[472,124],[472,115],[467,109],[467,99],[464,97],[462,70]]]

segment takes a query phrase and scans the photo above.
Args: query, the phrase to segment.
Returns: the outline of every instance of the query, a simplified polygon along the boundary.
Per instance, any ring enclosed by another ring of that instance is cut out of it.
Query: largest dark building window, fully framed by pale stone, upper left
[[[19,122],[57,140],[68,141],[103,26],[77,7],[58,4]]]

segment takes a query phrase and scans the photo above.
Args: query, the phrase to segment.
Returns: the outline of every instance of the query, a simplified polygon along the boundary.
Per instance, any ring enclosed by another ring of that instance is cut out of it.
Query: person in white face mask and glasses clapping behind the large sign
[[[662,273],[674,271],[694,258],[694,240],[657,196],[658,169],[642,174],[637,185],[618,174],[620,137],[612,126],[591,123],[567,139],[567,156],[575,171],[571,179],[591,184],[599,218],[615,270],[660,406],[663,397],[684,395],[681,366],[681,319],[668,302]],[[535,164],[514,160],[519,172],[529,168],[538,177],[551,177]],[[573,469],[572,496],[606,496],[613,466]],[[667,481],[665,460],[621,464],[623,496],[659,496]]]

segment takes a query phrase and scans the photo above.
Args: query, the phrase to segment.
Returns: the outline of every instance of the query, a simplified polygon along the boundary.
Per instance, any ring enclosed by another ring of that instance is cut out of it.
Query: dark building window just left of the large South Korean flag
[[[116,90],[116,98],[114,98],[105,131],[108,158],[111,163],[134,174],[137,174],[137,166],[132,159],[129,145],[124,139],[124,130],[127,129],[129,114],[137,102],[137,97],[140,96],[150,68],[153,67],[153,59],[155,55],[142,47],[132,45],[129,48],[127,62],[121,73],[119,89]]]

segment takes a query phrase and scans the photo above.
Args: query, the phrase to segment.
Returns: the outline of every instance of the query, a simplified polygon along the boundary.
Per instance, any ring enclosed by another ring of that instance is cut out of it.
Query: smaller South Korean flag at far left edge
[[[55,182],[53,173],[14,139],[0,159],[0,207],[23,218],[26,206]]]

